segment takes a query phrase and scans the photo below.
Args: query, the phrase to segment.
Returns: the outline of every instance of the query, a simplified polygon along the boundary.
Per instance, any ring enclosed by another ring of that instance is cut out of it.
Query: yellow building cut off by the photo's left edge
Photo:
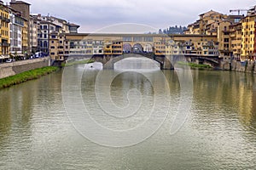
[[[0,3],[0,59],[9,58],[9,8]]]

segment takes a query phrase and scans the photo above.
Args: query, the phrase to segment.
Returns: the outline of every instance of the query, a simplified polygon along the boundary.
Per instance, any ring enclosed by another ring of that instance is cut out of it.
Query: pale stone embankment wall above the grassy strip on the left
[[[24,71],[31,71],[50,65],[50,58],[27,59],[15,61],[12,63],[0,64],[0,79],[5,77],[15,76]]]

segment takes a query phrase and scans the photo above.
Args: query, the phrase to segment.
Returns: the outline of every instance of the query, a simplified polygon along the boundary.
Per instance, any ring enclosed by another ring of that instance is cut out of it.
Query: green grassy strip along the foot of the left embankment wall
[[[6,77],[0,79],[0,89],[1,88],[9,88],[13,85],[20,84],[22,82],[27,82],[29,80],[37,79],[44,75],[48,75],[51,72],[57,71],[59,67],[55,66],[47,66],[39,69],[35,69],[32,71],[22,72],[12,77]]]

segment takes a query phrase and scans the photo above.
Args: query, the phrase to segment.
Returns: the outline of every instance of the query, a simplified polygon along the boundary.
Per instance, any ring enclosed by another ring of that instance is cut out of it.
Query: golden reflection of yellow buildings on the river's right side
[[[195,99],[199,107],[211,105],[207,112],[217,114],[224,110],[229,113],[225,116],[238,116],[246,127],[251,124],[255,83],[251,75],[229,71],[195,71],[194,75]]]

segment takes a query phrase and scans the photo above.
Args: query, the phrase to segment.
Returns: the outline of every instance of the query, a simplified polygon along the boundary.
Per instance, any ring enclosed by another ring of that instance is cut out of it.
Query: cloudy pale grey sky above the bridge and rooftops
[[[5,3],[10,0],[4,0]],[[198,20],[208,10],[230,14],[230,9],[250,8],[255,0],[25,0],[31,13],[50,14],[79,24],[80,32],[93,32],[119,23],[166,28]]]

